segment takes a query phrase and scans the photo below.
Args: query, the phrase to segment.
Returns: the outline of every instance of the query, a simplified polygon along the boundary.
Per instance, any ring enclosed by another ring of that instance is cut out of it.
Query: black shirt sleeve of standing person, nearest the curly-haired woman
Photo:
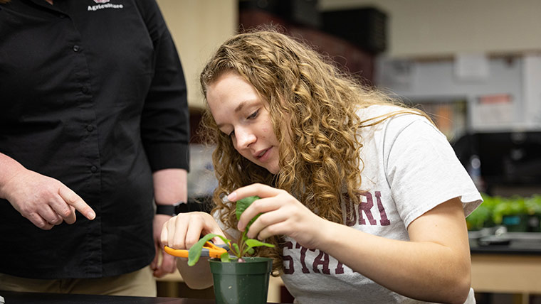
[[[156,1],[137,1],[154,45],[151,87],[141,118],[141,137],[152,171],[189,170],[189,109],[182,64]]]

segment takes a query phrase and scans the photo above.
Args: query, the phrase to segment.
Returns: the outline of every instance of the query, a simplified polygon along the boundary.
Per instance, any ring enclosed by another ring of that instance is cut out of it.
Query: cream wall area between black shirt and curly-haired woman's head
[[[199,72],[218,46],[236,32],[237,0],[157,0],[177,45],[190,107],[203,108]]]

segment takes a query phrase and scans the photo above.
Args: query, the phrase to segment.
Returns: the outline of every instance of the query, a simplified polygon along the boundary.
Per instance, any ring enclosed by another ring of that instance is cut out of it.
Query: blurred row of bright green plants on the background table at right
[[[532,195],[532,197],[521,197],[519,195],[501,197],[490,196],[485,193],[481,195],[483,204],[466,217],[466,223],[470,230],[494,227],[496,224],[501,224],[505,215],[541,214],[541,195]]]

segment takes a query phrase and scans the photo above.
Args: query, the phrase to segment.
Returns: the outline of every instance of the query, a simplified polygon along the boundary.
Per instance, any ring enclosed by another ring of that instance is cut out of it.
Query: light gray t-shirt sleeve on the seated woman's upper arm
[[[389,119],[384,153],[387,179],[406,227],[442,202],[460,197],[468,216],[482,199],[446,137],[413,114]]]

